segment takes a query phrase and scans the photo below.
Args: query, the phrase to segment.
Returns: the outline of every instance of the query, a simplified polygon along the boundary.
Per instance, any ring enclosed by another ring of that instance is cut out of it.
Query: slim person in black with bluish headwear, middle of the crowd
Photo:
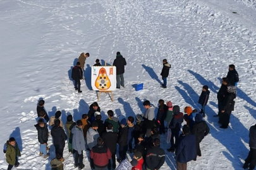
[[[126,157],[126,152],[128,150],[128,125],[126,119],[123,118],[120,122],[120,129],[118,133],[118,144],[119,144],[119,159],[118,162],[121,162]]]

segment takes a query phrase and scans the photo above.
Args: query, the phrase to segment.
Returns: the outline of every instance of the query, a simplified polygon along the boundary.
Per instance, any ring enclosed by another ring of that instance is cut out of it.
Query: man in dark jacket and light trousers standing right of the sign
[[[120,54],[120,52],[116,53],[116,59],[114,59],[113,65],[116,66],[116,88],[120,88],[120,83],[121,86],[125,87],[125,79],[123,74],[125,73],[126,60],[123,55]]]

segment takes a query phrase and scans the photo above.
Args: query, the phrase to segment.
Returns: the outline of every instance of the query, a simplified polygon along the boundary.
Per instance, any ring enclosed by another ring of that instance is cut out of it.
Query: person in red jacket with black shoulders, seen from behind
[[[106,169],[112,156],[110,150],[103,143],[103,139],[98,137],[97,145],[90,150],[90,158],[94,159],[95,170]]]

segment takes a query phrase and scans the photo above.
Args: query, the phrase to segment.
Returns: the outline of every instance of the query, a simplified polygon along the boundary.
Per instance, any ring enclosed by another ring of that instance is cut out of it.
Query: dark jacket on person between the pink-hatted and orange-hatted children
[[[169,125],[172,133],[180,132],[181,123],[183,122],[183,113],[180,112],[180,106],[173,106],[173,119]]]

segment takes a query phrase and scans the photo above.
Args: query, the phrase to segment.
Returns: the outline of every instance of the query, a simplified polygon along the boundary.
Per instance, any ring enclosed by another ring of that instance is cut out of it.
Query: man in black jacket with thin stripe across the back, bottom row
[[[160,169],[166,160],[164,149],[160,148],[160,140],[154,139],[154,147],[147,151],[146,166],[149,170]]]

